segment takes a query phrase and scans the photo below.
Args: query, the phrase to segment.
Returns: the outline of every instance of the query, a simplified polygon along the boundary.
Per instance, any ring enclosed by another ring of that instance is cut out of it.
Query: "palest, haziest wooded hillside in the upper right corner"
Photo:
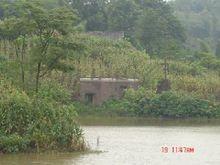
[[[201,40],[214,52],[219,40],[218,0],[175,0],[170,5],[187,32],[187,45],[199,50]]]

